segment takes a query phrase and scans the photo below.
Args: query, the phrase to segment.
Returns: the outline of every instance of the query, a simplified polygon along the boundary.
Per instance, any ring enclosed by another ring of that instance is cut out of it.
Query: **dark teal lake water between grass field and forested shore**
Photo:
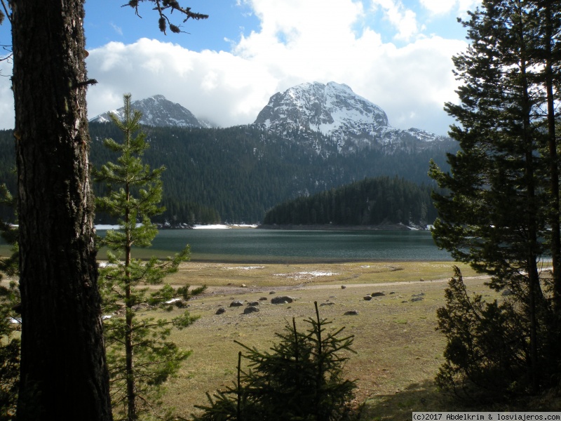
[[[164,229],[154,239],[152,251],[174,253],[186,244],[196,261],[452,260],[427,231]]]

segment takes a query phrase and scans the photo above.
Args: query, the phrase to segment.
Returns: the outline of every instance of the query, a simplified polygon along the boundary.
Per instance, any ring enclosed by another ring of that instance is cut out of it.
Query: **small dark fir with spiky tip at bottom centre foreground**
[[[330,321],[306,320],[306,333],[298,332],[295,319],[287,323],[271,352],[245,348],[248,371],[241,370],[238,354],[238,378],[233,387],[207,394],[210,406],[197,406],[204,412],[194,421],[334,421],[349,417],[354,381],[343,377],[353,336],[340,337],[341,328],[325,333]]]

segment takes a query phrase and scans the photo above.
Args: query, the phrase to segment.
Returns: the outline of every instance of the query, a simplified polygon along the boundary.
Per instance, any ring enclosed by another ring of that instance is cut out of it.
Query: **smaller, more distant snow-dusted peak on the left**
[[[166,100],[163,95],[136,100],[131,105],[133,109],[142,112],[140,123],[147,126],[212,127],[207,121],[197,119],[189,109]],[[111,112],[122,119],[124,108],[121,107]],[[111,119],[109,119],[109,112],[104,112],[90,121],[105,123],[111,121]]]

